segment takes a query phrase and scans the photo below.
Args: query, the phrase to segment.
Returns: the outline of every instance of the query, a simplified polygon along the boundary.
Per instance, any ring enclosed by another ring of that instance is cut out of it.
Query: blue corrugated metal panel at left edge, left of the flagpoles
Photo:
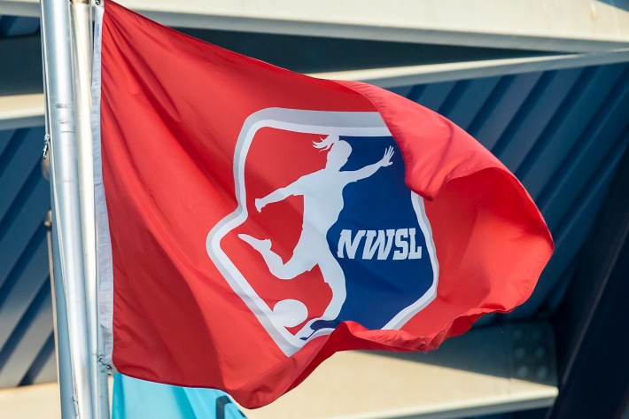
[[[0,387],[56,378],[42,146],[41,127],[0,131]]]

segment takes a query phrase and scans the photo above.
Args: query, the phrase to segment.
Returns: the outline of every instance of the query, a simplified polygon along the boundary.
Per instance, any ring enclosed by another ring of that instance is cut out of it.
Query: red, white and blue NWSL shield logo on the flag
[[[253,113],[234,158],[237,209],[207,252],[286,355],[339,322],[399,329],[436,296],[423,199],[377,113]]]

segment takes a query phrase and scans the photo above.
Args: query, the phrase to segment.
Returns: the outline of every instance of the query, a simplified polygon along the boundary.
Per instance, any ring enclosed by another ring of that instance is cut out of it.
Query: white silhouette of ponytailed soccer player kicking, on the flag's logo
[[[384,151],[382,159],[359,170],[341,171],[345,166],[352,146],[338,136],[327,136],[320,142],[313,142],[313,146],[328,151],[325,167],[314,173],[303,175],[290,185],[269,193],[264,198],[255,199],[255,207],[260,213],[268,204],[282,201],[290,196],[304,197],[304,220],[301,236],[292,252],[292,257],[286,263],[271,250],[271,241],[260,240],[247,234],[239,234],[242,240],[251,244],[252,248],[260,252],[267,263],[271,274],[279,279],[289,280],[318,265],[323,280],[328,283],[332,291],[332,299],[322,316],[311,319],[306,327],[299,331],[298,338],[308,338],[314,333],[311,325],[318,320],[334,320],[341,311],[346,300],[346,279],[343,269],[330,252],[326,236],[328,230],[338,220],[338,214],[343,209],[343,189],[350,182],[360,181],[374,175],[380,167],[392,165],[393,147]]]

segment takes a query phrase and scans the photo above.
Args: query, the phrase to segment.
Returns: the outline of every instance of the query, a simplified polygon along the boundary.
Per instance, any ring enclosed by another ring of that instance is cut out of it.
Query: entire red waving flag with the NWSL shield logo
[[[337,351],[431,350],[508,312],[550,257],[514,175],[406,98],[113,2],[100,64],[101,311],[128,376],[260,407]]]

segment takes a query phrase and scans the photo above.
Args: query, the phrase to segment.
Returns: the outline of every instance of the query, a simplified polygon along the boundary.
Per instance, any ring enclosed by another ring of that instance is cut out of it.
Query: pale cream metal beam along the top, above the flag
[[[0,14],[38,15],[38,0],[0,0]],[[127,0],[167,26],[584,52],[629,45],[629,12],[593,0]]]

